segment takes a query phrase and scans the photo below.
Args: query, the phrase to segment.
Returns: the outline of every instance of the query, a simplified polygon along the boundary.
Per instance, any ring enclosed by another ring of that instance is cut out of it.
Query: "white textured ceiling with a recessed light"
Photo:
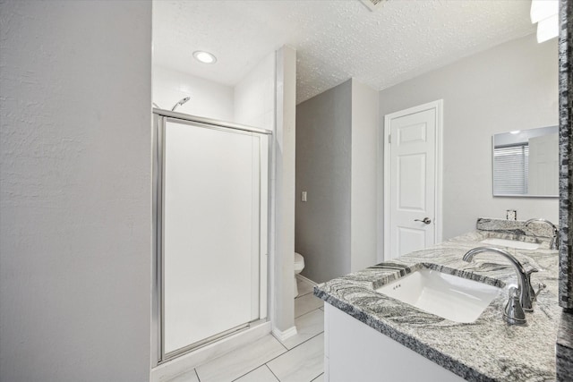
[[[355,78],[385,89],[535,32],[528,0],[154,1],[153,60],[235,85],[283,45],[297,52],[296,101]],[[195,50],[218,57],[213,65]]]

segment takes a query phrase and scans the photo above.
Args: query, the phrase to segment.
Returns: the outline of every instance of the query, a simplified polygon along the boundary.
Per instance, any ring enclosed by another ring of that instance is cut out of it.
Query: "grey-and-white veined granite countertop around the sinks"
[[[487,246],[480,241],[489,237],[535,241],[531,236],[477,230],[330,280],[316,286],[314,294],[466,380],[555,380],[555,343],[561,317],[558,251],[550,250],[547,241],[541,242],[537,250],[506,249],[526,270],[539,269],[531,277],[535,291],[537,284],[547,285],[535,301],[534,311],[526,313],[526,325],[510,326],[502,315],[508,286],[517,284],[514,268],[491,252],[477,254],[471,263],[462,260],[467,250]],[[504,290],[469,324],[440,318],[374,292],[424,265],[464,276],[465,272],[471,272],[479,281],[503,286]]]

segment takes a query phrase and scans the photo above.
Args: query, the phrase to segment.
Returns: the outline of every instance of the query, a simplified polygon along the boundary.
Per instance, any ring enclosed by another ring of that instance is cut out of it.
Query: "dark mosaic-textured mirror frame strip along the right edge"
[[[573,237],[569,225],[573,225],[573,166],[569,165],[573,134],[573,2],[560,0],[559,31],[559,160],[560,160],[560,277],[559,304],[561,308],[573,309]]]

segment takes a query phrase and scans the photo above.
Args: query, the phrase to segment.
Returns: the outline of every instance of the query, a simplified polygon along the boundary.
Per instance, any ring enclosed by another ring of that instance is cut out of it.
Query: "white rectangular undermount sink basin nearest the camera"
[[[501,289],[423,268],[376,289],[396,300],[455,322],[474,322]]]

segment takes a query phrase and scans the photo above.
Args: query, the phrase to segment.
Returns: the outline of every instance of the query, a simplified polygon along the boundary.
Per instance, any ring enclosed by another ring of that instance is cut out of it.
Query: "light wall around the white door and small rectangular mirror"
[[[558,123],[557,57],[556,39],[530,35],[381,90],[381,128],[384,115],[444,100],[444,239],[506,209],[558,221],[557,198],[492,197],[492,135]]]

